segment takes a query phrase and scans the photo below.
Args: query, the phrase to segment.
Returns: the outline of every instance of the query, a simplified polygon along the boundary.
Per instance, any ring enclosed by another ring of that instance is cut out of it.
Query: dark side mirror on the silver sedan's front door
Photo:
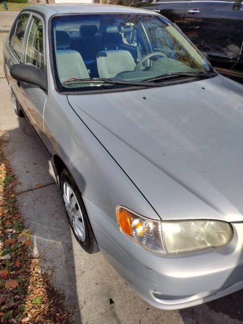
[[[10,68],[11,76],[22,82],[27,82],[38,86],[43,90],[48,90],[47,76],[43,71],[38,70],[35,66],[29,64],[14,64]]]

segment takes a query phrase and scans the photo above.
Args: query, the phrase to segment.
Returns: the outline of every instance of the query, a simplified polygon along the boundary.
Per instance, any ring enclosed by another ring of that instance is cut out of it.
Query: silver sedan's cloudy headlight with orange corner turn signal
[[[116,208],[120,230],[158,253],[182,253],[226,245],[232,238],[229,223],[216,220],[158,221],[123,206]]]

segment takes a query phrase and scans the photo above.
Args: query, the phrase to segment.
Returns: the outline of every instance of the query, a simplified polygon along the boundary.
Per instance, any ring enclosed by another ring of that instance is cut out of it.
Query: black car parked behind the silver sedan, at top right
[[[131,6],[166,16],[221,73],[243,78],[242,0],[153,0]]]

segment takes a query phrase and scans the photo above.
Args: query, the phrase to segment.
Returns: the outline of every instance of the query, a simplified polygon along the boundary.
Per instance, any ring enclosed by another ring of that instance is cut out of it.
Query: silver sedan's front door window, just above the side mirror
[[[30,23],[24,53],[24,63],[31,64],[39,70],[44,66],[43,23],[41,19],[33,17]]]

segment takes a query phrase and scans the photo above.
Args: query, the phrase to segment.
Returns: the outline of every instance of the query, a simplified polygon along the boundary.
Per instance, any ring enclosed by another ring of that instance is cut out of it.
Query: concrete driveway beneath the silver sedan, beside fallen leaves
[[[18,176],[18,203],[32,233],[42,266],[64,291],[76,324],[233,324],[243,323],[243,294],[235,294],[181,311],[158,310],[119,277],[103,255],[86,254],[71,233],[53,170],[25,118],[12,108],[3,75],[0,33],[0,135],[9,140],[5,150]],[[0,139],[1,140],[1,139]],[[42,185],[37,189],[36,184]],[[110,299],[113,303],[110,304]]]

